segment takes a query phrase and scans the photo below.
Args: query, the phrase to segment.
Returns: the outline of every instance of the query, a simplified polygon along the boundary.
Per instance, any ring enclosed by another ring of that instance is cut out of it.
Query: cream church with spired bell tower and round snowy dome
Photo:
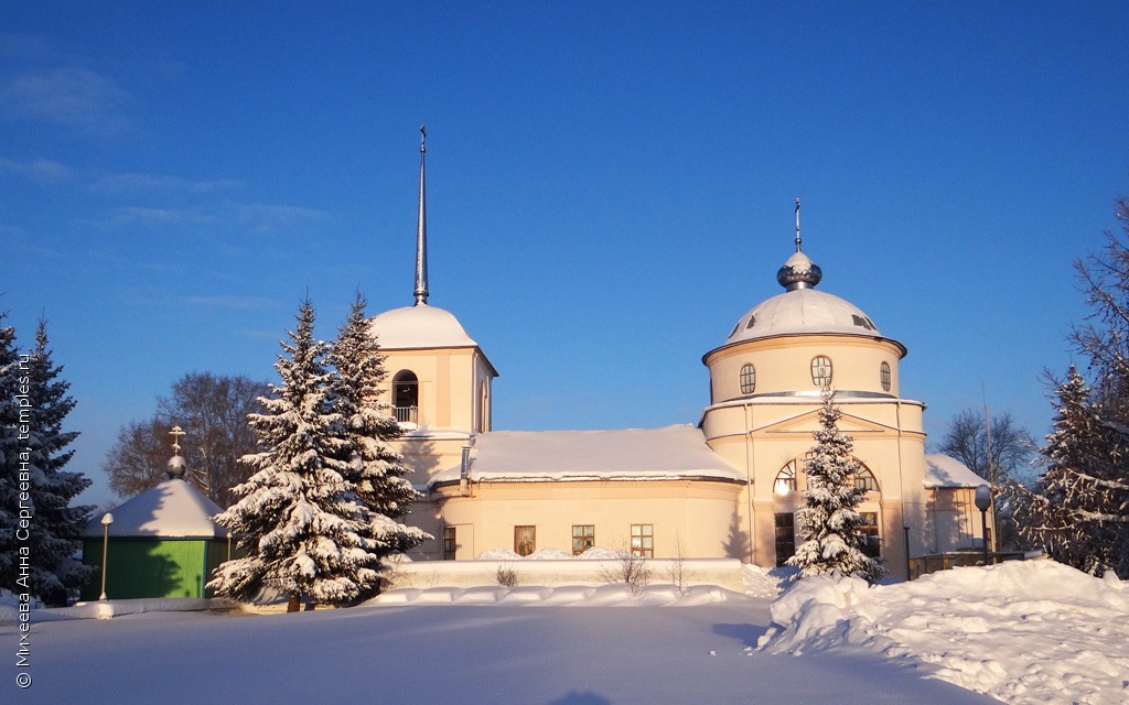
[[[908,557],[983,540],[970,491],[981,481],[926,455],[925,404],[900,391],[905,346],[817,289],[798,200],[795,252],[777,272],[782,291],[702,356],[710,398],[688,420],[697,423],[495,431],[497,370],[453,314],[428,303],[425,155],[421,141],[414,302],[370,323],[388,372],[384,398],[404,431],[394,444],[425,494],[409,520],[436,537],[414,559],[601,547],[780,565],[803,540],[804,457],[826,388],[861,464],[867,550],[890,573],[904,576]]]

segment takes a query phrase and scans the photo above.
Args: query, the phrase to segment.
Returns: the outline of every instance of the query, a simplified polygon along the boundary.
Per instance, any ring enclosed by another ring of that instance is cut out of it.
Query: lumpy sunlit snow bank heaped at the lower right
[[[770,653],[865,649],[1007,703],[1129,702],[1129,588],[1050,561],[910,583],[809,578],[772,603]]]

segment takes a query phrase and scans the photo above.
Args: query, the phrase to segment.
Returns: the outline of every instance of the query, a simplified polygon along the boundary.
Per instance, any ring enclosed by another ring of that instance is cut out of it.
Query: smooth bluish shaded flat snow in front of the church
[[[35,625],[12,703],[991,703],[881,655],[752,652],[765,600],[374,606]],[[0,641],[12,637],[0,627]],[[10,682],[0,688],[15,690]]]

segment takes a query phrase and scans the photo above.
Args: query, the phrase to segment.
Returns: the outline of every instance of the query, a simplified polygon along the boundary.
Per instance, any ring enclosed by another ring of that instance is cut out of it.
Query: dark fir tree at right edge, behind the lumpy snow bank
[[[1024,538],[1093,575],[1129,578],[1129,435],[1070,367],[1058,384],[1058,411],[1042,453],[1047,472],[1024,492]]]

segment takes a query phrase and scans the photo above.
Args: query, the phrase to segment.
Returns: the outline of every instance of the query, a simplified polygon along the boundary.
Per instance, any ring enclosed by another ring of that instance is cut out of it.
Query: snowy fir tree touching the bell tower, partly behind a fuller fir
[[[369,511],[368,550],[380,559],[431,537],[395,521],[408,514],[420,494],[404,478],[408,468],[388,444],[400,437],[400,425],[390,413],[391,405],[379,397],[385,378],[384,359],[369,331],[365,306],[365,297],[358,292],[327,361],[336,372],[332,382],[333,404],[344,441],[342,459],[348,467],[347,479]]]

